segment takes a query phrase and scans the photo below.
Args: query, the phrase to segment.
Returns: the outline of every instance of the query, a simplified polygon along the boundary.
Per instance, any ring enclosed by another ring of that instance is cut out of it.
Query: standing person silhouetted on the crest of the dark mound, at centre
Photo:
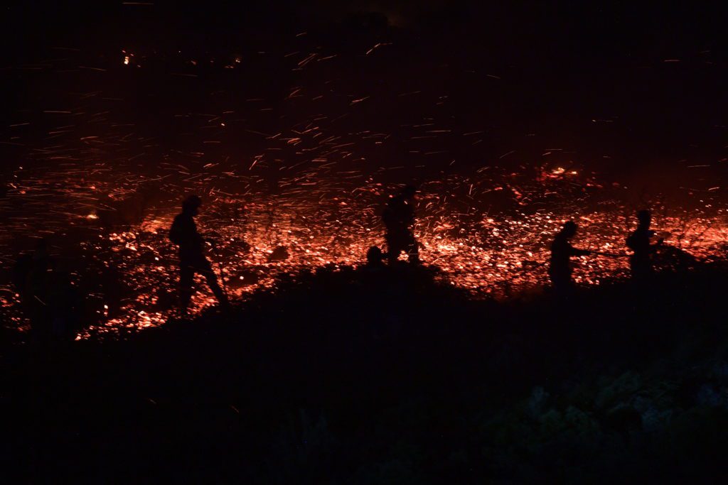
[[[414,196],[416,188],[406,186],[397,196],[387,202],[381,215],[387,228],[387,260],[397,261],[401,252],[406,252],[410,262],[419,262],[419,250],[411,226],[414,225]]]

